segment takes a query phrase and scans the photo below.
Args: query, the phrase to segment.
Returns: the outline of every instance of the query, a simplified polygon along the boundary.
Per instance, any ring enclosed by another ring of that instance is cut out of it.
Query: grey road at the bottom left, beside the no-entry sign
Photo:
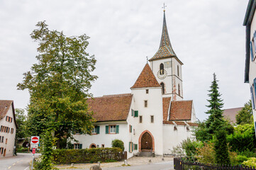
[[[37,157],[39,154],[35,154]],[[18,153],[16,157],[4,157],[0,159],[0,170],[28,170],[33,154]]]

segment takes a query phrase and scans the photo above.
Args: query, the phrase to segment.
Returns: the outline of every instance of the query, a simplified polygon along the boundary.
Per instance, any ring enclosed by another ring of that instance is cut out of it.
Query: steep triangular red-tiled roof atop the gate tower
[[[155,75],[150,69],[150,65],[147,63],[140,73],[140,76],[135,81],[135,84],[130,89],[143,88],[143,87],[160,87],[160,84],[155,79]]]

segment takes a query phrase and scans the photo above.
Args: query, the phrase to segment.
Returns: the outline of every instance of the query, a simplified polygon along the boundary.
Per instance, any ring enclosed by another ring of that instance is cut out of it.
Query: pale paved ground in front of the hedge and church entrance
[[[142,165],[142,164],[152,164],[152,163],[157,163],[157,162],[169,162],[173,161],[173,157],[164,157],[164,160],[162,160],[162,157],[132,157],[127,160],[127,163],[130,166],[134,165]],[[149,162],[151,160],[151,162]],[[122,166],[124,162],[110,162],[110,163],[101,163],[101,168],[105,167],[117,167],[117,166]],[[70,164],[69,165],[58,165],[56,166],[58,169],[89,169],[91,166],[95,164],[74,164],[74,167],[72,167]]]

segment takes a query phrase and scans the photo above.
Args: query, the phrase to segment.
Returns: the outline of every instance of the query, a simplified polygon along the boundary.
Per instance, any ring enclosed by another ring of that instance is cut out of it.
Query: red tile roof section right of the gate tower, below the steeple
[[[169,120],[191,120],[193,101],[172,101]]]

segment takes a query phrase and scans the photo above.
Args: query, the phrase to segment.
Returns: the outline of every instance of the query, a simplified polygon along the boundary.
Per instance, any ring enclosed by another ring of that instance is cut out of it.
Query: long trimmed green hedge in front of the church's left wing
[[[53,150],[53,160],[55,164],[116,162],[122,159],[123,151],[116,147]]]

